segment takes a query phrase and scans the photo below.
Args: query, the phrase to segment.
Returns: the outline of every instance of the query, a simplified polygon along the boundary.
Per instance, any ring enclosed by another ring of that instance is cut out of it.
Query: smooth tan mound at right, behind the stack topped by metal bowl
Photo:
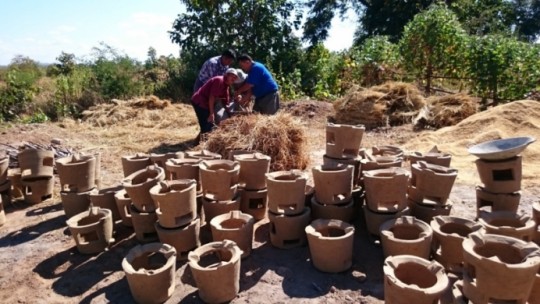
[[[472,115],[455,126],[426,132],[403,145],[410,152],[427,152],[437,145],[453,155],[451,167],[459,170],[458,181],[478,184],[475,156],[468,147],[489,140],[532,136],[540,138],[540,103],[532,100],[514,101]],[[540,176],[540,143],[531,144],[522,154],[523,182],[532,185]]]

